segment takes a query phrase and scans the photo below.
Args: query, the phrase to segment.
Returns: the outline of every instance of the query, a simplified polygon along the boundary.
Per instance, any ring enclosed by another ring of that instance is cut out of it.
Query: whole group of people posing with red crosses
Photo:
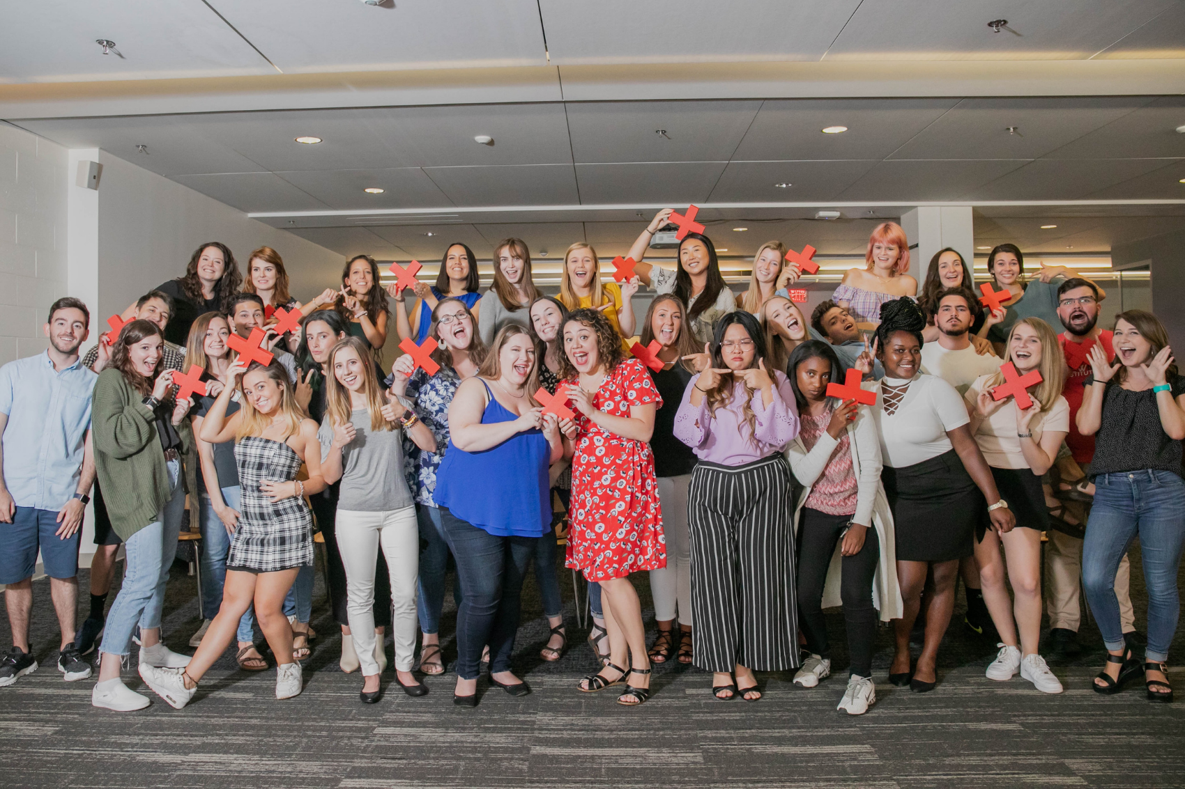
[[[630,257],[643,258],[670,213]],[[832,671],[822,611],[834,605],[850,659],[839,710],[876,701],[878,620],[895,633],[889,682],[929,691],[960,576],[968,624],[999,634],[986,675],[1019,673],[1057,693],[1039,652],[1045,534],[1046,649],[1074,646],[1081,578],[1107,649],[1094,689],[1119,692],[1142,673],[1148,699],[1171,701],[1185,377],[1160,321],[1127,310],[1102,329],[1096,283],[1061,267],[1025,282],[1011,244],[988,257],[993,291],[1007,291],[998,309],[982,308],[953,249],[918,288],[893,223],[808,320],[787,291],[801,271],[786,251],[763,244],[735,295],[703,233],[681,239],[674,270],[638,263],[620,284],[602,282],[596,251],[577,243],[553,297],[533,284],[527,245],[508,238],[479,296],[474,254],[451,244],[433,287],[383,287],[376,262],[357,256],[339,289],[302,303],[275,250],[252,251],[243,281],[230,249],[211,243],[85,357],[88,308],[58,300],[47,351],[0,368],[0,583],[14,644],[0,686],[37,668],[40,551],[68,681],[90,676],[84,656],[102,635],[95,706],[149,704],[121,679],[133,642],[146,685],[174,707],[232,643],[244,671],[264,671],[256,626],[276,698],[296,695],[315,637],[315,528],[340,666],[360,669],[369,704],[383,693],[387,628],[408,695],[428,693],[417,668],[444,673],[454,565],[455,704],[478,704],[485,663],[494,686],[530,693],[512,662],[521,590],[533,569],[550,627],[540,656],[558,660],[561,544],[588,582],[600,662],[577,687],[621,686],[622,705],[646,703],[652,666],[667,661],[712,672],[720,700],[761,699],[755,672],[795,671],[815,687]],[[656,295],[639,321],[642,286]],[[300,310],[299,327],[277,331],[278,309]],[[435,340],[430,361],[380,367],[392,312],[401,339]],[[270,361],[236,351],[249,336]],[[92,492],[98,549],[76,628]],[[205,578],[192,656],[160,633],[186,494]],[[1146,644],[1127,591],[1136,535]],[[107,611],[121,543],[123,582]],[[642,571],[658,624],[649,646],[632,579]]]

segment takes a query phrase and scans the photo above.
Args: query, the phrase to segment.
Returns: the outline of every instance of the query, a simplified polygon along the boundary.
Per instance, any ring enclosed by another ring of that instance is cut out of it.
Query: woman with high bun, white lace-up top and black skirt
[[[992,469],[968,425],[955,387],[920,373],[925,316],[903,296],[880,307],[877,358],[885,377],[872,391],[872,417],[880,437],[885,486],[896,525],[897,578],[904,616],[895,621],[897,652],[889,681],[920,693],[934,689],[939,643],[950,623],[959,560],[972,556],[975,528],[1011,531],[1016,518],[1000,498]],[[910,671],[909,633],[922,603],[927,573],[934,592],[925,614],[925,642]]]

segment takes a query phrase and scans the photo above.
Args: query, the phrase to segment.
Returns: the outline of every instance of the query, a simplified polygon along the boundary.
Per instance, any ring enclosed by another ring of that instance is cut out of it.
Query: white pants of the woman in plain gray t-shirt
[[[416,649],[416,580],[419,525],[415,506],[386,512],[339,509],[338,551],[346,569],[346,611],[364,676],[378,674],[374,660],[374,563],[382,545],[391,573],[391,635],[395,667],[410,672]]]

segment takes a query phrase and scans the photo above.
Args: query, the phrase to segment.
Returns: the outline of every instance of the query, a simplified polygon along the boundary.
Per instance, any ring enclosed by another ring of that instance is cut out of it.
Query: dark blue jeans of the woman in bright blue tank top
[[[478,679],[489,644],[489,672],[508,672],[518,631],[523,578],[537,537],[494,537],[440,508],[444,538],[456,557],[463,599],[456,614],[456,675]]]

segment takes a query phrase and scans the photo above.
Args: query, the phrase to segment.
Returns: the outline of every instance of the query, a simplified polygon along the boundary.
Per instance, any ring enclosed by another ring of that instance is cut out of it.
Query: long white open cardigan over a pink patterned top
[[[880,620],[888,622],[901,618],[903,604],[901,585],[897,583],[897,552],[893,543],[892,512],[889,509],[889,500],[885,498],[884,486],[880,483],[880,440],[877,437],[872,415],[865,406],[857,411],[856,419],[847,425],[846,430],[848,443],[854,448],[852,451],[852,472],[857,480],[854,520],[867,524],[867,519],[871,517],[872,527],[877,530],[877,539],[880,543],[880,558],[872,580],[872,604],[880,611]],[[806,486],[794,507],[795,539],[799,534],[802,505],[811,495],[811,486],[826,469],[827,461],[837,444],[839,441],[832,438],[831,434],[825,430],[809,453],[801,437],[792,441],[786,449],[786,460],[790,463],[794,476]],[[827,569],[827,583],[822,594],[824,608],[835,608],[841,604],[839,595],[841,545],[843,540],[835,545],[835,553]]]

